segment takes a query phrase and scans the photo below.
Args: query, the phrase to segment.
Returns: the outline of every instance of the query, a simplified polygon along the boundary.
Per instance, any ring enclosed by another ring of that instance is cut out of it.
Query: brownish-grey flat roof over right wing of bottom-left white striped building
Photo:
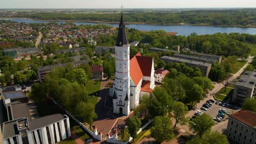
[[[65,115],[61,115],[60,113],[57,113],[55,115],[44,116],[44,117],[32,119],[31,121],[28,122],[29,123],[28,125],[30,125],[29,131],[36,130],[36,129],[45,127],[47,125],[50,125],[52,123],[59,122],[65,118],[66,118]]]

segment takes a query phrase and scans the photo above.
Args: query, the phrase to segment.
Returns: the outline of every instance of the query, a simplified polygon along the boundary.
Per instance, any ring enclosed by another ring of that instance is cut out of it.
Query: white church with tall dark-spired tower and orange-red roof
[[[115,44],[115,80],[109,89],[113,97],[113,112],[129,115],[142,95],[153,92],[155,87],[153,57],[141,56],[138,52],[130,57],[123,13],[119,24],[117,43]]]

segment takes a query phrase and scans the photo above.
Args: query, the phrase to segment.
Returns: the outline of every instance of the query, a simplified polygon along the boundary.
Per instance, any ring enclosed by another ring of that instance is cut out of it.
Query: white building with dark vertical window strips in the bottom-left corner
[[[61,114],[33,120],[19,118],[3,123],[3,144],[51,144],[69,136],[69,118]]]

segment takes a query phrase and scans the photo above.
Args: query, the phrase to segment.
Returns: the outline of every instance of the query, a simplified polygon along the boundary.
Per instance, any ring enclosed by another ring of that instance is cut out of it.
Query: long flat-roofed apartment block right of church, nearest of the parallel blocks
[[[212,64],[210,64],[210,63],[191,61],[191,60],[183,59],[183,58],[163,56],[163,57],[161,57],[161,59],[165,63],[169,63],[169,62],[184,63],[188,67],[199,68],[201,70],[201,73],[202,73],[203,76],[208,76],[208,74],[210,73],[210,70],[212,68]]]

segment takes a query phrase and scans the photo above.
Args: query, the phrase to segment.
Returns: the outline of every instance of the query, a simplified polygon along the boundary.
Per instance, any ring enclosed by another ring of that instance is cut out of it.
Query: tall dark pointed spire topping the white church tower
[[[123,5],[122,5],[121,19],[120,19],[119,28],[118,28],[118,37],[117,37],[115,46],[122,46],[127,44],[128,44],[128,40],[125,32],[125,23],[123,19]]]

